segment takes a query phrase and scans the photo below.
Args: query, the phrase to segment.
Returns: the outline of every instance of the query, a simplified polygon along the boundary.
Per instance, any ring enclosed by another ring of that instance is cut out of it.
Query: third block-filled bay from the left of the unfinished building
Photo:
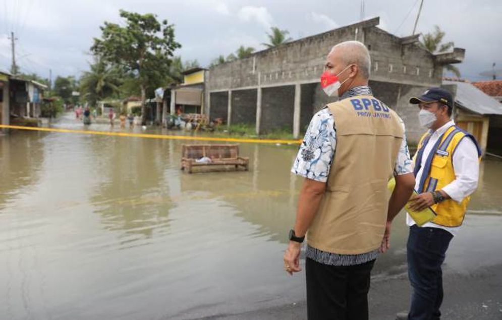
[[[293,131],[294,103],[294,86],[264,88],[260,134],[286,128]]]

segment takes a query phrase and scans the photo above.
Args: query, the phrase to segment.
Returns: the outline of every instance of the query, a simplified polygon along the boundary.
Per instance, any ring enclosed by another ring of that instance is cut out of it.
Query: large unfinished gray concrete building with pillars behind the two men
[[[204,112],[229,124],[254,125],[257,134],[286,129],[299,137],[312,115],[332,101],[319,84],[326,54],[337,43],[358,40],[371,55],[369,85],[375,97],[400,114],[408,140],[416,143],[423,129],[409,97],[440,86],[443,66],[461,62],[465,50],[432,54],[419,46],[419,35],[397,37],[378,28],[379,21],[361,21],[212,67],[205,79]]]

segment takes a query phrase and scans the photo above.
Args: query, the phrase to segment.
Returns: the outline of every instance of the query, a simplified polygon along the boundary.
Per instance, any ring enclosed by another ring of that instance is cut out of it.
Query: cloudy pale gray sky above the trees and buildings
[[[365,0],[364,18],[379,16],[379,28],[408,36],[420,1]],[[52,79],[79,77],[89,69],[88,52],[100,36],[99,26],[120,23],[120,9],[167,19],[182,44],[175,54],[205,67],[240,45],[263,49],[272,26],[299,39],[357,22],[360,8],[360,0],[0,0],[0,70],[10,70],[13,31],[22,72],[48,78],[51,69]],[[502,69],[501,0],[424,0],[417,33],[431,32],[434,25],[446,33],[443,41],[466,49],[457,65],[463,78],[490,80],[479,74],[492,70],[493,62]]]

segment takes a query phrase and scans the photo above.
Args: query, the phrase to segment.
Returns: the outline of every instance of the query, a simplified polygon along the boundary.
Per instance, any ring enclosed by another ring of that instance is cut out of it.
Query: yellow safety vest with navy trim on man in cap
[[[418,144],[417,156],[414,159],[415,176],[420,170],[423,151],[431,135],[431,131],[425,133]],[[419,188],[417,190],[418,193],[440,190],[456,179],[455,169],[453,167],[453,155],[459,143],[466,137],[474,142],[478,149],[478,157],[481,157],[481,150],[476,139],[458,126],[452,125],[432,147],[422,171]],[[432,223],[445,227],[458,227],[462,225],[470,200],[471,197],[466,197],[462,202],[458,203],[453,199],[448,199],[439,204],[432,205],[430,208],[437,215],[436,218],[432,220]]]

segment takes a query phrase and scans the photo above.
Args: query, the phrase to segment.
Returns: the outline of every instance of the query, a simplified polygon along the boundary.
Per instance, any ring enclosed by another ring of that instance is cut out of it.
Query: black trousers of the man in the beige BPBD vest
[[[356,266],[305,263],[309,320],[367,320],[370,273],[375,261]]]

